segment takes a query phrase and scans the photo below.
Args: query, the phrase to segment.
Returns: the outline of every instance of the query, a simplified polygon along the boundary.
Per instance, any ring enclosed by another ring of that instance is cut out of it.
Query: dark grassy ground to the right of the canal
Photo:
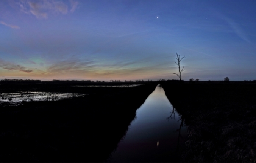
[[[170,84],[188,128],[184,162],[256,162],[256,84]]]

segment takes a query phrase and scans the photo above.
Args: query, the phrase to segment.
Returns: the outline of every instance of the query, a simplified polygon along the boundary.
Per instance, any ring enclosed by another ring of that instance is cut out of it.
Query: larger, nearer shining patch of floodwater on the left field
[[[80,97],[87,94],[51,93],[51,92],[17,92],[0,93],[0,106],[17,106],[29,101],[57,101],[66,98]]]

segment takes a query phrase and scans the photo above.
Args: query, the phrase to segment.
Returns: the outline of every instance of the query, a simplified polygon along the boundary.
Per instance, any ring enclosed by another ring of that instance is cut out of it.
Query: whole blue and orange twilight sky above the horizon
[[[1,0],[0,79],[256,79],[256,0]]]

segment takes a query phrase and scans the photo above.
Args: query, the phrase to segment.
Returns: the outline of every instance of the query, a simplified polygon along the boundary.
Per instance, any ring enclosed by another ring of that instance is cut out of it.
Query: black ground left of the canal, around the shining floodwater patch
[[[61,101],[0,107],[0,162],[104,162],[157,83],[138,87],[0,85],[2,93],[84,93]]]

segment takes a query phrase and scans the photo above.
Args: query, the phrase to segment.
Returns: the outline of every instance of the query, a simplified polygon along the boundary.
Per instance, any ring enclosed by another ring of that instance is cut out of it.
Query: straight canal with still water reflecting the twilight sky
[[[136,112],[110,162],[178,162],[187,129],[158,84]]]

